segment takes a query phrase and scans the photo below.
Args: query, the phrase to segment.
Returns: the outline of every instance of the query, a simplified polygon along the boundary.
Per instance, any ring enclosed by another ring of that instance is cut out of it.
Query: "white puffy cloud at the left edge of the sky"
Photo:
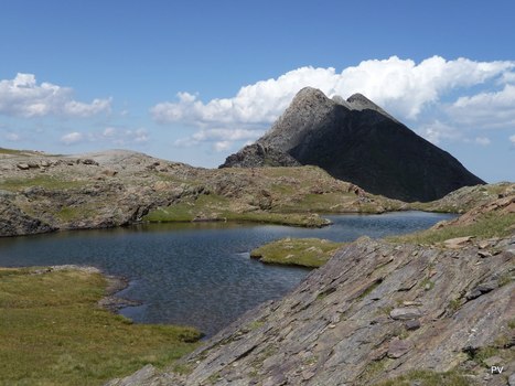
[[[37,84],[33,74],[18,74],[13,79],[0,81],[0,114],[19,117],[49,115],[89,117],[108,112],[111,99],[77,101],[69,87],[51,83]]]

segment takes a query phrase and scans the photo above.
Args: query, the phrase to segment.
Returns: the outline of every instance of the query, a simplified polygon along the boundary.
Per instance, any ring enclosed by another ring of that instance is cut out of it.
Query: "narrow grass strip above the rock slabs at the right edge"
[[[386,238],[394,243],[436,244],[449,238],[473,236],[476,238],[504,237],[513,233],[515,226],[515,213],[492,213],[480,216],[478,221],[469,225],[446,226],[440,229],[428,229],[406,236]]]

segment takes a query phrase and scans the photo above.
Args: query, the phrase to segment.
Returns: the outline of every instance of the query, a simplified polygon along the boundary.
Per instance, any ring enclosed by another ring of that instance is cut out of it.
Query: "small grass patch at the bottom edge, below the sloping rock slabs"
[[[470,378],[458,372],[437,373],[426,369],[411,371],[406,375],[376,383],[377,386],[411,386],[418,382],[420,386],[471,386]]]

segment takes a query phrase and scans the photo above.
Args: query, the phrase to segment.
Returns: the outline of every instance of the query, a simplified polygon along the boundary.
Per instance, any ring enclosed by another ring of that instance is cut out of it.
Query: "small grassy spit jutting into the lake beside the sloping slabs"
[[[343,245],[319,238],[283,238],[254,249],[250,257],[262,262],[315,268],[325,264]]]

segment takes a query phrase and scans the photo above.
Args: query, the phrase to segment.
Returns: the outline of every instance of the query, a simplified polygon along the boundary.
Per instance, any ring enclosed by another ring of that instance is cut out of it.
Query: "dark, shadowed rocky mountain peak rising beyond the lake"
[[[221,168],[300,164],[405,202],[433,201],[484,183],[365,96],[330,99],[311,87],[297,94],[264,137]]]

